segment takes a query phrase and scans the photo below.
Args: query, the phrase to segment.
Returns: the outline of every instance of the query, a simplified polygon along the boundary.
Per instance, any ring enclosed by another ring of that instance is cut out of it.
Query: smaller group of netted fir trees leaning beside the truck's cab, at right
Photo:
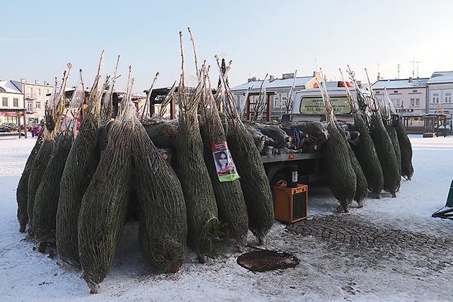
[[[329,186],[343,211],[348,211],[352,200],[362,207],[368,192],[379,198],[384,190],[396,197],[401,176],[410,180],[413,175],[411,143],[390,100],[379,104],[372,90],[365,95],[352,71],[348,72],[357,92],[357,98],[353,98],[345,85],[354,118],[354,124],[347,128],[360,134],[354,142],[333,115],[328,92],[319,83],[328,130],[323,159]]]

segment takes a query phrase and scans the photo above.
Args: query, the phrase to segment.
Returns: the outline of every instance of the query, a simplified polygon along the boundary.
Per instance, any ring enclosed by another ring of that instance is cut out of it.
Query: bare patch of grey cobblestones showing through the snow
[[[401,260],[412,267],[440,271],[453,265],[453,236],[427,235],[374,225],[352,214],[318,216],[287,226],[300,236],[326,241],[328,250],[360,257],[369,265]]]

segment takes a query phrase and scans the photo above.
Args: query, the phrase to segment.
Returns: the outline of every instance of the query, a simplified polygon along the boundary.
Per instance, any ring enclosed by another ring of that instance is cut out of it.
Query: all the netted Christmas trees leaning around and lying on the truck
[[[227,83],[230,66],[217,58],[213,95],[209,67],[196,57],[197,83],[186,85],[182,38],[181,57],[171,90],[177,120],[139,119],[131,71],[113,110],[116,69],[101,81],[103,54],[88,98],[81,81],[68,104],[68,64],[46,104],[45,127],[18,182],[19,227],[40,252],[55,245],[64,262],[81,269],[91,293],[108,274],[130,217],[139,221],[137,241],[156,272],[178,272],[186,245],[202,263],[226,247],[241,250],[248,231],[265,243],[274,211],[263,155],[322,152],[343,211],[354,199],[362,205],[368,192],[395,196],[401,175],[411,179],[410,141],[375,95],[356,87],[354,99],[348,91],[354,124],[336,120],[321,83],[326,122],[243,122]]]

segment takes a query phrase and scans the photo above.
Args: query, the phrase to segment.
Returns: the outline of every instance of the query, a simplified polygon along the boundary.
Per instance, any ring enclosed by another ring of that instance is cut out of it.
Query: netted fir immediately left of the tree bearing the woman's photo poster
[[[180,107],[178,132],[176,134],[176,174],[184,192],[188,222],[188,245],[197,254],[199,262],[205,262],[203,242],[212,238],[206,231],[216,224],[217,204],[209,172],[203,158],[203,143],[197,119],[202,82],[196,89],[185,87],[181,76],[178,88]]]

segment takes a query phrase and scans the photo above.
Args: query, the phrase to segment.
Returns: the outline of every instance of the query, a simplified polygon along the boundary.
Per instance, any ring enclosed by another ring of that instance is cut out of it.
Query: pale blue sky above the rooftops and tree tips
[[[113,74],[120,54],[117,89],[126,88],[132,65],[134,91],[171,86],[179,79],[178,32],[193,71],[190,27],[200,52],[211,64],[215,54],[233,60],[230,86],[265,74],[310,76],[320,67],[328,79],[349,64],[357,78],[429,77],[453,70],[453,1],[1,1],[0,79],[53,83],[66,64],[69,85],[83,69],[93,82],[102,50],[105,71]]]

